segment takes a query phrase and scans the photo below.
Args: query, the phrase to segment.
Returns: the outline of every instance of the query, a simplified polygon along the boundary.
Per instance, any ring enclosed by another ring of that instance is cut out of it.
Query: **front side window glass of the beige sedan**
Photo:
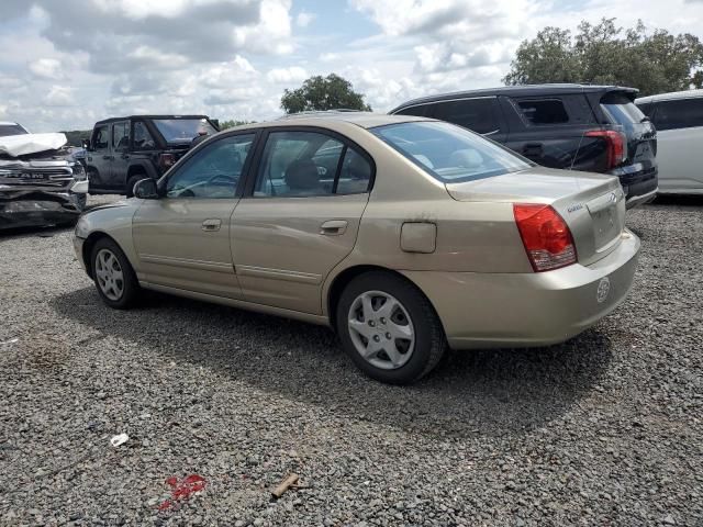
[[[234,198],[255,134],[223,137],[196,153],[166,182],[167,198]]]

